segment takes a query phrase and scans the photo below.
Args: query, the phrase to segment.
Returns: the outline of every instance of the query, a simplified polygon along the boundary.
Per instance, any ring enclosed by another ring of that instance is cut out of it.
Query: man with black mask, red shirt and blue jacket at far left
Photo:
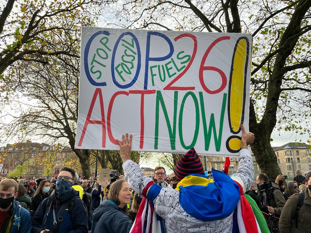
[[[30,213],[19,207],[14,200],[18,195],[18,184],[12,179],[2,179],[0,182],[0,232],[30,233]]]

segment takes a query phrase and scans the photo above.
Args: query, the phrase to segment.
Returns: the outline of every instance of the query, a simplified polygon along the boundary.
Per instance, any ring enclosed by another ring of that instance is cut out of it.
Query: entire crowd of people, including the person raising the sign
[[[130,159],[126,134],[118,141],[125,176],[114,182],[87,180],[69,167],[50,180],[0,177],[0,232],[311,232],[311,171],[297,170],[287,183],[283,175],[254,174],[247,149],[254,135],[241,129],[232,176],[213,170],[207,177],[191,148],[169,176],[158,166],[147,177]]]

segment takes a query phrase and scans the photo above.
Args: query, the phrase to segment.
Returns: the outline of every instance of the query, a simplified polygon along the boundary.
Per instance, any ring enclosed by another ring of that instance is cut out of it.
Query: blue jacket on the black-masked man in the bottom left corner
[[[17,216],[18,205],[19,205],[19,202],[14,200],[13,201],[13,215]],[[17,233],[17,232],[18,233],[30,233],[32,223],[31,223],[31,217],[30,217],[29,211],[21,207],[20,217],[21,217],[21,222],[20,222],[20,227],[18,230],[17,230],[16,221],[14,220],[14,216],[12,217],[12,225],[11,225],[9,233]]]

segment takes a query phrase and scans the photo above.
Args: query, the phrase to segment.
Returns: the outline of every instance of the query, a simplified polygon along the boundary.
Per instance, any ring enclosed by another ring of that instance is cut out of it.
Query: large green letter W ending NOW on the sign
[[[221,137],[222,137],[222,127],[223,127],[223,124],[224,124],[225,107],[226,107],[226,102],[227,102],[227,93],[224,93],[224,97],[222,99],[222,107],[221,107],[221,113],[220,113],[220,123],[219,123],[218,137],[217,137],[217,133],[216,133],[214,113],[211,114],[210,124],[208,126],[208,131],[207,131],[205,109],[204,109],[204,100],[203,100],[202,92],[199,92],[199,97],[200,97],[202,120],[203,120],[205,150],[208,151],[208,149],[210,147],[211,133],[212,133],[212,130],[213,130],[215,148],[216,148],[216,151],[220,151]]]

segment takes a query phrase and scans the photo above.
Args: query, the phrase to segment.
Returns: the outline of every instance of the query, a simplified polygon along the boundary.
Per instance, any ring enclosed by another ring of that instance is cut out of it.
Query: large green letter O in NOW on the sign
[[[193,135],[193,140],[192,143],[189,146],[186,146],[184,141],[183,141],[183,107],[185,105],[186,99],[188,96],[191,96],[194,102],[195,106],[195,130],[194,130],[194,135]],[[183,97],[183,100],[181,102],[180,110],[179,110],[179,120],[178,120],[178,131],[179,131],[179,139],[180,139],[180,144],[183,148],[185,149],[191,149],[194,147],[194,145],[197,142],[197,137],[199,135],[199,127],[200,127],[200,111],[199,111],[199,103],[197,101],[197,97],[192,91],[188,91],[185,96]]]

